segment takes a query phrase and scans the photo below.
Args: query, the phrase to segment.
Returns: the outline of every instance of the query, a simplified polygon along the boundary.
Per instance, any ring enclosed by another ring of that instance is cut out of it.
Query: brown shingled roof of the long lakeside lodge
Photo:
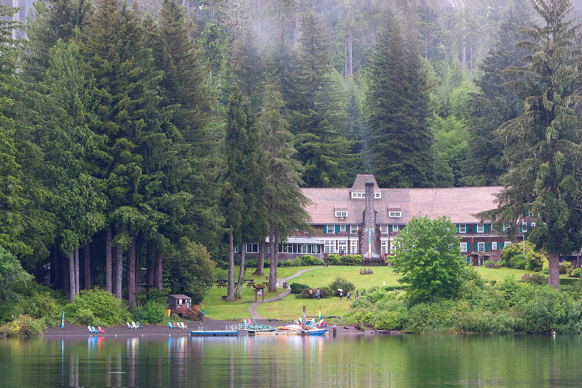
[[[358,175],[352,188],[303,188],[303,194],[313,203],[306,207],[313,224],[360,224],[365,207],[364,198],[352,198],[352,191],[364,192],[366,182],[374,183],[374,199],[378,224],[406,224],[413,216],[431,218],[448,216],[453,223],[478,223],[473,215],[494,209],[494,194],[502,186],[452,188],[378,188],[373,175]],[[346,209],[347,218],[335,216],[338,208]],[[402,211],[402,217],[388,216],[388,211]]]

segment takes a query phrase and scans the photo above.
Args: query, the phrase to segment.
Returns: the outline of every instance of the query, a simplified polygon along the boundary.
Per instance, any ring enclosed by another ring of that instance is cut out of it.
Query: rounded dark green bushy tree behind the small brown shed
[[[185,294],[193,304],[201,303],[208,285],[216,282],[214,261],[202,244],[181,241],[168,262],[168,286],[172,294]]]

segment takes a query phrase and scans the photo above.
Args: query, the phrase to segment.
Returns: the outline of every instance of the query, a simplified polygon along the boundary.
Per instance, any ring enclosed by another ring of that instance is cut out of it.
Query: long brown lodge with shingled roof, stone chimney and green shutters
[[[351,188],[303,188],[311,200],[306,210],[317,233],[296,231],[279,244],[279,260],[310,254],[360,254],[368,264],[389,261],[394,239],[413,216],[447,216],[462,237],[460,251],[473,265],[500,259],[506,244],[521,241],[527,227],[521,222],[516,236],[503,236],[490,222],[475,214],[494,209],[501,186],[452,188],[379,188],[374,175],[358,175]],[[504,226],[509,229],[508,226]],[[246,244],[247,258],[257,255],[258,244]]]

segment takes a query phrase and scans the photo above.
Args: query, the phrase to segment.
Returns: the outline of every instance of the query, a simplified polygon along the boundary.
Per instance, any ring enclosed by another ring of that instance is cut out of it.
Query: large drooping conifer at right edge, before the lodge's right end
[[[532,89],[519,115],[498,129],[509,171],[501,179],[505,188],[498,195],[498,208],[481,217],[499,225],[513,223],[509,233],[527,214],[534,218],[528,239],[548,252],[548,283],[559,288],[560,254],[582,245],[580,24],[571,17],[570,0],[533,4],[544,24],[519,29],[529,38],[517,42],[530,53],[528,64],[510,69],[530,78]],[[517,86],[527,82],[522,78]]]

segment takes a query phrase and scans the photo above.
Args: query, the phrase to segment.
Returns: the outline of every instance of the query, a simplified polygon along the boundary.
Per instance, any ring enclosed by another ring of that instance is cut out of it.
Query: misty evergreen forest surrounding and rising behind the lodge
[[[492,220],[537,209],[535,244],[577,248],[570,0],[51,0],[0,15],[3,302],[33,276],[70,301],[101,286],[131,307],[137,282],[201,301],[237,245],[309,227],[301,187],[360,173],[513,188]],[[189,290],[172,283],[184,260]]]

